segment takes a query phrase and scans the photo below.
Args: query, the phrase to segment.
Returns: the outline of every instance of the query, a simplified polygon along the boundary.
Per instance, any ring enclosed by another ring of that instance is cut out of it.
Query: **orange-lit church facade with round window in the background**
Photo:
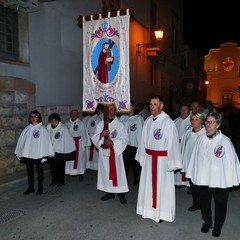
[[[216,107],[240,108],[240,47],[231,41],[210,49],[204,57],[207,100]]]

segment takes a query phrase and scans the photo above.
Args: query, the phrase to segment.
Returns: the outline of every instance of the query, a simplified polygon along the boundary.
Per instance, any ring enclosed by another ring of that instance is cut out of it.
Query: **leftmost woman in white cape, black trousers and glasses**
[[[24,195],[33,193],[34,190],[34,165],[38,176],[37,194],[43,194],[43,162],[46,158],[54,156],[53,146],[47,129],[42,124],[42,116],[39,111],[33,110],[28,117],[29,125],[22,131],[17,146],[15,156],[21,162],[26,163],[28,188]]]

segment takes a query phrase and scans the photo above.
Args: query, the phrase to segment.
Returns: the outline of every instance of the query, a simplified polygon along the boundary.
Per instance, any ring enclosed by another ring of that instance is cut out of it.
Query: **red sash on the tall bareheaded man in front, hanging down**
[[[158,157],[166,157],[168,151],[157,151],[146,148],[146,154],[152,156],[152,207],[157,208],[157,159]]]

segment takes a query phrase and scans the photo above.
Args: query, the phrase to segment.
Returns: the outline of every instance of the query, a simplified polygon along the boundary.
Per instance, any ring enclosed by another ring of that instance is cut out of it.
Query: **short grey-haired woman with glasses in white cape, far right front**
[[[201,231],[207,233],[213,226],[212,236],[219,237],[226,219],[229,188],[240,184],[240,164],[232,142],[219,130],[221,115],[208,113],[205,125],[206,134],[195,143],[186,176],[198,186],[204,221]]]

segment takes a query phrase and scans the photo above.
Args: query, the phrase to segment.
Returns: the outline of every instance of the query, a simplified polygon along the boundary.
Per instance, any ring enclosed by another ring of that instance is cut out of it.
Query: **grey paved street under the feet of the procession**
[[[211,231],[201,233],[200,211],[189,212],[191,196],[186,189],[176,189],[177,212],[173,223],[155,223],[136,214],[138,188],[130,176],[128,203],[118,198],[103,202],[96,189],[97,172],[87,171],[84,179],[66,175],[63,187],[49,187],[45,169],[44,194],[22,195],[26,177],[0,181],[1,240],[207,240]],[[36,183],[35,183],[36,185]],[[219,239],[240,236],[240,191],[229,196],[227,220]]]

